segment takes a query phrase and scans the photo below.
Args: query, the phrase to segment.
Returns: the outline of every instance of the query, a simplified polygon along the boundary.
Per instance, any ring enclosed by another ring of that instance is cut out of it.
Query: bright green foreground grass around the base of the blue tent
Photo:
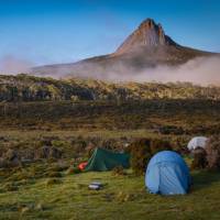
[[[43,172],[46,164],[38,166]],[[10,175],[11,179],[1,179],[1,188],[13,183],[18,189],[1,189],[0,219],[207,220],[220,216],[220,173],[193,172],[188,195],[163,197],[148,194],[144,177],[135,177],[130,170],[125,176],[107,172],[35,178],[28,175],[32,168],[23,170],[25,184],[15,179],[18,172]],[[89,190],[88,184],[94,180],[103,183],[103,189]]]

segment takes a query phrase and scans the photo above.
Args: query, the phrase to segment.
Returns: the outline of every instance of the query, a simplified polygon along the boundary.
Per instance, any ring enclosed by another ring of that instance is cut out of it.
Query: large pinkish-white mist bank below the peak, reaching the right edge
[[[92,69],[95,67],[92,66]],[[96,69],[100,69],[99,66]],[[86,73],[89,73],[86,69]],[[92,73],[92,72],[90,72]],[[80,76],[80,75],[78,75]],[[117,64],[107,73],[92,75],[82,75],[84,77],[98,78],[113,81],[158,81],[158,82],[176,82],[190,81],[198,85],[220,85],[220,57],[199,57],[187,62],[186,64],[170,67],[158,65],[154,68],[145,68],[136,72],[131,66]]]

